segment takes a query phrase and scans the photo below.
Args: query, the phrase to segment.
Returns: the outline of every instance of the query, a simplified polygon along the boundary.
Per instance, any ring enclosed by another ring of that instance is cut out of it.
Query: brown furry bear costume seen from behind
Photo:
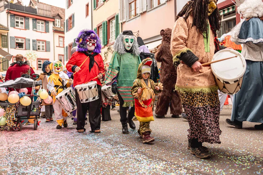
[[[155,59],[161,62],[160,82],[163,83],[163,90],[158,95],[155,117],[163,118],[170,106],[172,117],[179,116],[183,109],[179,94],[174,91],[177,80],[176,67],[173,65],[173,56],[170,52],[172,29],[161,30],[162,45],[155,54]]]

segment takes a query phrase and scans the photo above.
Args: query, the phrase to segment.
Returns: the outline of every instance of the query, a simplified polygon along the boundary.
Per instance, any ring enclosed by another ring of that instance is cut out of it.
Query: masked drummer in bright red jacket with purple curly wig
[[[70,72],[76,72],[74,75],[74,87],[90,81],[97,81],[99,99],[87,103],[81,103],[77,90],[77,131],[84,132],[85,114],[89,111],[90,132],[100,133],[101,127],[101,81],[102,75],[105,72],[101,53],[101,41],[98,35],[93,30],[84,29],[80,31],[76,38],[78,44],[77,52],[73,53],[72,57],[66,64],[66,68]],[[87,60],[86,58],[89,57]],[[86,60],[86,61],[85,61]],[[82,65],[83,63],[83,65]],[[82,65],[82,66],[81,66]],[[98,78],[95,78],[97,77]],[[95,79],[94,79],[95,78]]]

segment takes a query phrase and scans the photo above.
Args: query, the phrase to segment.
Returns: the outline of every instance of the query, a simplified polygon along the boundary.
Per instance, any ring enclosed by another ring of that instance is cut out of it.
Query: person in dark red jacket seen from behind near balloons
[[[23,62],[23,55],[21,54],[17,54],[15,56],[15,63],[12,63],[10,65],[10,67],[8,67],[7,71],[6,71],[6,78],[5,81],[8,80],[15,80],[15,78],[19,78],[21,77],[21,75],[23,74],[28,74],[30,76],[32,76],[32,74],[34,74],[34,70],[32,69],[32,67],[30,67],[29,65],[27,65],[27,61]],[[14,89],[12,88],[8,88],[9,91],[13,91]],[[16,89],[16,91],[19,92],[20,89]],[[27,94],[31,94],[32,88],[27,88],[28,93]]]

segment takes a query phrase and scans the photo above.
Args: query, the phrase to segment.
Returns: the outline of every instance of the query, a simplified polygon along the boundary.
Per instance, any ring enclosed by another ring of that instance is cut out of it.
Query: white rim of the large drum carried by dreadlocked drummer
[[[247,68],[247,64],[246,64],[246,60],[245,60],[244,56],[243,56],[241,53],[239,53],[238,51],[233,50],[233,49],[223,49],[223,50],[219,50],[217,53],[214,54],[212,61],[214,61],[214,57],[215,57],[216,55],[219,55],[221,52],[226,52],[226,51],[234,52],[234,53],[236,53],[236,54],[241,58],[241,60],[242,60],[242,62],[243,62],[243,64],[244,64],[244,69],[243,69],[242,73],[240,73],[240,74],[239,74],[238,76],[236,76],[235,78],[229,79],[229,78],[221,77],[221,76],[219,76],[218,74],[216,74],[216,72],[214,71],[214,66],[213,66],[213,64],[211,64],[211,70],[212,70],[212,72],[213,72],[213,74],[214,74],[214,76],[215,76],[216,78],[219,78],[219,79],[222,80],[222,81],[233,82],[233,81],[238,80],[240,77],[243,77],[243,76],[244,76],[245,71],[246,71],[246,68]]]

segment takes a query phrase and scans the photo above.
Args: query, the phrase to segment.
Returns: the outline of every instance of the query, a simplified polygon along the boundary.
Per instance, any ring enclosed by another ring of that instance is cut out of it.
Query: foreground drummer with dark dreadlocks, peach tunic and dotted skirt
[[[198,158],[210,158],[203,142],[221,143],[219,99],[210,62],[219,45],[216,31],[221,17],[217,0],[191,0],[176,17],[172,30],[171,52],[177,67],[175,89],[179,92],[190,129],[188,146]]]

